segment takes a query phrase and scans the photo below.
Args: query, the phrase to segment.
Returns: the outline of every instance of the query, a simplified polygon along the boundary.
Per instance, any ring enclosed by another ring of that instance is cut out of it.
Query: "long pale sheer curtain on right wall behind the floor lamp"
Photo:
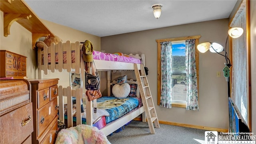
[[[246,0],[244,0],[234,16],[230,27],[240,27],[244,33],[232,40],[232,88],[231,97],[244,120],[248,123],[247,115],[247,50],[246,50]]]

